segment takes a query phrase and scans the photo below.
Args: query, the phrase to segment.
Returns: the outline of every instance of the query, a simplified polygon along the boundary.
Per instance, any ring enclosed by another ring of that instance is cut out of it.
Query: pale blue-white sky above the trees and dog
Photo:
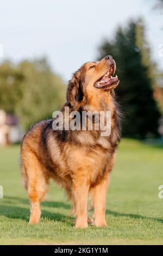
[[[2,0],[0,62],[46,56],[63,80],[95,61],[103,39],[142,16],[152,57],[163,70],[163,12],[154,0]],[[1,54],[3,48],[3,56]]]

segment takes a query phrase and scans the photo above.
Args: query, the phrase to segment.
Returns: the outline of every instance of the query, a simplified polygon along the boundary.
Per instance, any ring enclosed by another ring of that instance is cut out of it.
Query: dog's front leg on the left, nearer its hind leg
[[[73,194],[76,209],[76,228],[87,227],[87,196],[89,185],[85,176],[73,176]]]

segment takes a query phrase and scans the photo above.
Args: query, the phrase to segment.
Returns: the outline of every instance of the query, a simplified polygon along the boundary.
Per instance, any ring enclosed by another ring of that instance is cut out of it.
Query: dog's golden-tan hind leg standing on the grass
[[[23,176],[26,169],[26,188],[30,199],[29,224],[37,224],[41,216],[40,203],[48,189],[48,177],[43,173],[41,163],[32,152],[26,152],[22,168]]]

